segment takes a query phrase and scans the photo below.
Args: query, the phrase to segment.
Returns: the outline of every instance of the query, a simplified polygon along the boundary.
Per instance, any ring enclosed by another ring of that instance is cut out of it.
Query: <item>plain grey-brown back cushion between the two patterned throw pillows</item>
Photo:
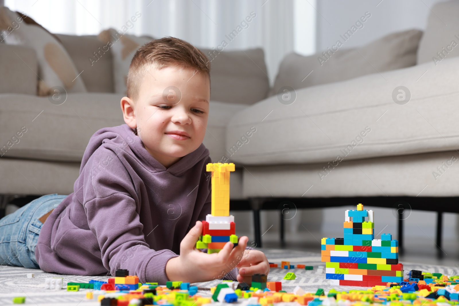
[[[95,35],[56,34],[83,79],[88,92],[112,93],[112,52]]]

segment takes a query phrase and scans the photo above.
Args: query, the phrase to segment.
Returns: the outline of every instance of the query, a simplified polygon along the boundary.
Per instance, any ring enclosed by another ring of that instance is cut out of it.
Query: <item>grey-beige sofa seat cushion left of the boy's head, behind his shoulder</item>
[[[1,94],[0,156],[81,162],[97,130],[124,123],[121,98],[73,93],[55,105],[48,97]]]

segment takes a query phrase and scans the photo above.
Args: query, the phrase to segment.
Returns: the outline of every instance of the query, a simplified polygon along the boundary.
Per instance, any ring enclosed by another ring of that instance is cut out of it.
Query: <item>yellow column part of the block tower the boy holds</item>
[[[229,216],[229,174],[235,171],[234,163],[207,164],[212,172],[212,216]]]

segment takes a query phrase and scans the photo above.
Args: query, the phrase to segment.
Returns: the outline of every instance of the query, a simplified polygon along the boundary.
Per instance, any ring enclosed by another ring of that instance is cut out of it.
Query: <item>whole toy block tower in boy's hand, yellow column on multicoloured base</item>
[[[211,214],[202,221],[202,236],[196,242],[196,249],[207,249],[207,253],[218,253],[230,241],[237,245],[238,237],[234,216],[229,215],[229,174],[235,171],[234,163],[208,163],[212,172]]]

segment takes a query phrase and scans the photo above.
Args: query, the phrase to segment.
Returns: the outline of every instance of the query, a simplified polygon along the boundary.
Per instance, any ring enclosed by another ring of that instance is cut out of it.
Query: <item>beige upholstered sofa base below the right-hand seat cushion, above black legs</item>
[[[248,165],[243,169],[243,196],[457,197],[458,163],[459,153],[453,150],[342,161],[325,177],[319,176],[319,173],[324,172],[323,163]],[[371,205],[370,202],[366,204]]]

